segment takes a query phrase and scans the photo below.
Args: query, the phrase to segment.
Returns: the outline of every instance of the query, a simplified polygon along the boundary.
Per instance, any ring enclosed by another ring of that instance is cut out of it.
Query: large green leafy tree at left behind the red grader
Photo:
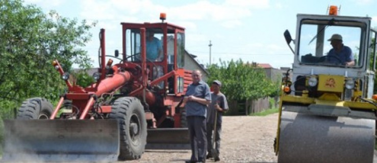
[[[65,84],[52,66],[57,59],[69,71],[90,67],[82,49],[94,23],[79,22],[51,11],[44,14],[21,0],[0,1],[0,112],[30,97],[56,99]],[[0,113],[1,115],[4,115]]]

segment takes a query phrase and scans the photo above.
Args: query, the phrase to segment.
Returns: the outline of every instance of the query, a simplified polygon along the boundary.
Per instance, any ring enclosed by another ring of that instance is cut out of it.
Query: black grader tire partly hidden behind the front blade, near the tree
[[[22,102],[16,119],[49,119],[53,113],[53,105],[45,98],[29,98]]]

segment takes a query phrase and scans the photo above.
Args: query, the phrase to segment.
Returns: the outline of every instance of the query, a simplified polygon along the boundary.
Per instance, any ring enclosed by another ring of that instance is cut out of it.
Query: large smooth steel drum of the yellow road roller
[[[375,120],[283,111],[278,162],[373,162]]]

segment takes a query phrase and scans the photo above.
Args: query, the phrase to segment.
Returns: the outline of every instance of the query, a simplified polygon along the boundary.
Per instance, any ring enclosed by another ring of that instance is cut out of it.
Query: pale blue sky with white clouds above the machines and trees
[[[106,55],[121,51],[120,22],[165,22],[185,28],[186,50],[200,64],[241,59],[268,63],[273,68],[291,67],[293,54],[283,33],[295,36],[296,14],[327,14],[330,5],[340,6],[338,15],[372,17],[377,26],[377,1],[373,0],[25,0],[43,12],[55,10],[70,19],[97,21],[85,50],[98,65],[98,33],[106,30]],[[293,38],[294,39],[294,38]],[[211,58],[210,44],[211,41]]]

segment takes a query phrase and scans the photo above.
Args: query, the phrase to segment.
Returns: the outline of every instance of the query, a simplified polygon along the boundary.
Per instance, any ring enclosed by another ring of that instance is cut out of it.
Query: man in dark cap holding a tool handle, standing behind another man
[[[221,82],[219,80],[214,80],[212,82],[211,88],[211,104],[209,104],[207,110],[207,150],[208,155],[206,158],[215,157],[215,161],[219,161],[219,152],[220,152],[220,133],[221,133],[221,122],[222,122],[222,113],[229,110],[227,97],[220,92]],[[216,114],[217,112],[217,114]],[[217,115],[217,117],[215,117]],[[214,124],[216,119],[216,130],[214,130]],[[212,131],[214,131],[215,138],[212,138]],[[216,155],[212,155],[212,139],[215,139],[215,150]]]

